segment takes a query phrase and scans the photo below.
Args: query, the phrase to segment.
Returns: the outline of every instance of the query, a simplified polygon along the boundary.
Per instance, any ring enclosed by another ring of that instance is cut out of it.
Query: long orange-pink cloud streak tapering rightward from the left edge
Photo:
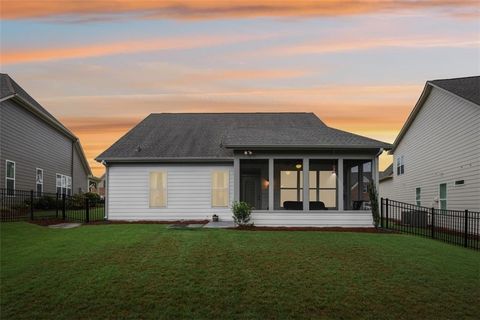
[[[133,41],[95,43],[73,47],[22,48],[0,51],[2,64],[40,62],[50,60],[92,58],[118,54],[133,54],[162,50],[185,50],[214,47],[251,40],[260,40],[272,35],[228,35],[153,38]]]

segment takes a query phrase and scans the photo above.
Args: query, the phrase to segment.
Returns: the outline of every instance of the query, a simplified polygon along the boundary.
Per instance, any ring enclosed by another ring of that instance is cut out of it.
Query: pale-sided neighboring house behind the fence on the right
[[[428,81],[390,153],[384,197],[480,211],[480,77]]]

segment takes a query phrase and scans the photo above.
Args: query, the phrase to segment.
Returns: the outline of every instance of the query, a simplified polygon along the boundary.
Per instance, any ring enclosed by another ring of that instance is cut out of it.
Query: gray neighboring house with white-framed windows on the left
[[[79,139],[9,75],[0,74],[0,89],[0,187],[87,192],[92,172]]]

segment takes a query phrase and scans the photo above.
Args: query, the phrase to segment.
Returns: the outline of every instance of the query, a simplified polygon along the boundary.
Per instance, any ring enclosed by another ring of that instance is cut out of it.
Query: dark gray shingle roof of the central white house
[[[161,113],[149,115],[97,160],[230,160],[234,149],[390,147],[330,128],[313,113]]]

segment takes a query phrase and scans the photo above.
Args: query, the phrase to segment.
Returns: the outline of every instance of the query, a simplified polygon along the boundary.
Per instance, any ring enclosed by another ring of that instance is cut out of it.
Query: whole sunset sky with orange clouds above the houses
[[[425,81],[480,73],[479,3],[1,0],[0,64],[96,175],[152,112],[308,111],[393,142]]]

